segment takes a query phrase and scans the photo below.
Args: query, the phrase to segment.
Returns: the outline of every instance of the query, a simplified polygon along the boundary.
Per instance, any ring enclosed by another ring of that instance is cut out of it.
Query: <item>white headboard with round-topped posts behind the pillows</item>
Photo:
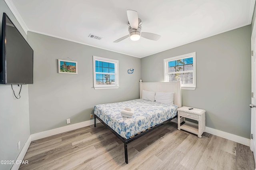
[[[154,92],[174,92],[174,105],[181,107],[181,82],[156,82],[156,83],[144,83],[140,80],[140,99],[142,97],[142,90],[154,91]]]

